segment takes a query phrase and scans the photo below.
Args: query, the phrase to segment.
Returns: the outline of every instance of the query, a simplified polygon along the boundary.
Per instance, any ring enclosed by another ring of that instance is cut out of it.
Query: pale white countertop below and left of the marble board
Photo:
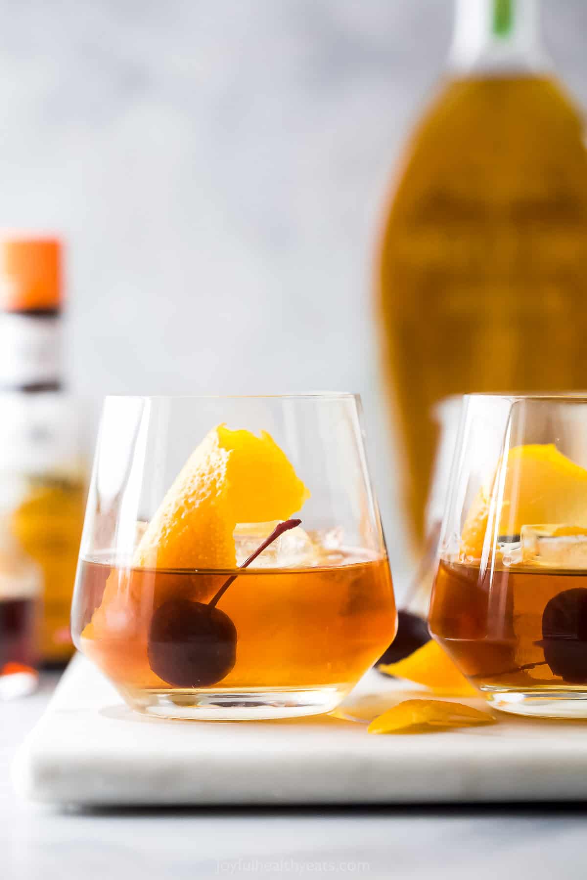
[[[8,766],[55,682],[46,675],[33,697],[0,704],[3,880],[584,876],[582,805],[72,812],[18,803]]]

